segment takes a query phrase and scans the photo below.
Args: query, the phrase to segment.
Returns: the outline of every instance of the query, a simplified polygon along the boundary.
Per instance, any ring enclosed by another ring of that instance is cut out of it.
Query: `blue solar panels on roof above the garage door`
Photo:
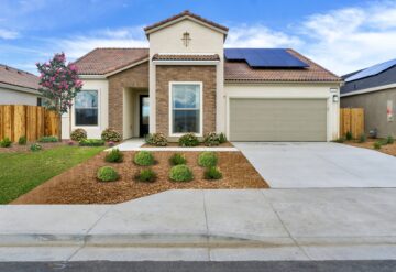
[[[309,67],[284,48],[226,48],[228,61],[245,61],[252,68]]]

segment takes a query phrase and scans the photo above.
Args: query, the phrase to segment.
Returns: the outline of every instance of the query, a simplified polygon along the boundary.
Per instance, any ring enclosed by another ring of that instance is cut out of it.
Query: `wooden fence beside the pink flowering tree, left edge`
[[[35,141],[44,135],[59,135],[61,118],[55,111],[26,105],[0,105],[0,140],[16,142],[25,135]]]

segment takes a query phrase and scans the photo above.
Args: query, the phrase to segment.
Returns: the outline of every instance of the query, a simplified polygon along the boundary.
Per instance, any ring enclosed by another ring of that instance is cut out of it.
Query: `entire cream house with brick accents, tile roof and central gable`
[[[228,28],[189,11],[144,29],[148,48],[96,48],[76,61],[73,128],[99,138],[224,132],[233,141],[339,137],[341,78],[293,50],[224,48]],[[68,138],[68,116],[63,137]]]

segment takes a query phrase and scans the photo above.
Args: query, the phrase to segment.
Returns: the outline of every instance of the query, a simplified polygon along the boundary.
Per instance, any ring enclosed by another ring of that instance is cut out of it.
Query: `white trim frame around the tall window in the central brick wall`
[[[204,83],[202,81],[169,81],[169,137],[182,137],[186,133],[173,133],[173,86],[174,85],[198,85],[199,86],[199,133],[195,133],[197,137],[204,135]]]

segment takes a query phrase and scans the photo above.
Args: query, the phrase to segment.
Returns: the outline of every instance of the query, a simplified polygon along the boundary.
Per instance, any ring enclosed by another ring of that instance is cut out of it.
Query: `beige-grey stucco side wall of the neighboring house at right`
[[[387,137],[389,134],[396,137],[396,117],[394,117],[392,122],[387,120],[387,100],[393,100],[395,112],[396,88],[342,97],[341,107],[364,108],[364,129],[366,133],[371,129],[376,128],[378,137]]]

